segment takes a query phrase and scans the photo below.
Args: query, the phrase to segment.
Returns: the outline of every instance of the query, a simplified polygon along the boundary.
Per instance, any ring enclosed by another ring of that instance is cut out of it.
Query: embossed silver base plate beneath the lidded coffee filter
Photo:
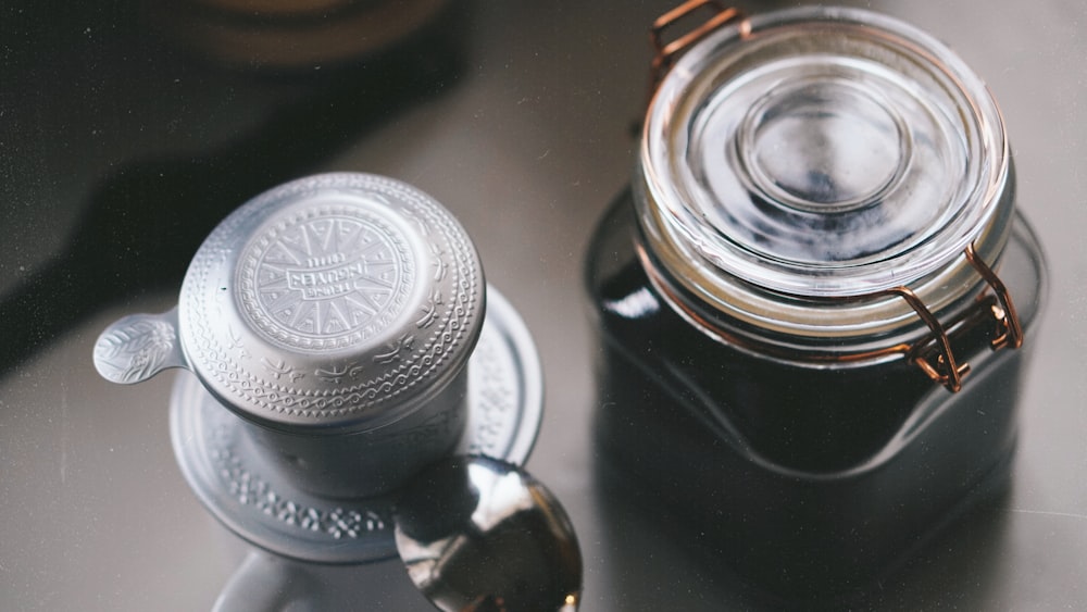
[[[492,287],[467,367],[467,426],[454,452],[524,463],[542,416],[542,372],[527,327]],[[273,553],[317,563],[363,563],[397,554],[396,495],[339,500],[300,490],[264,464],[240,419],[189,372],[174,384],[170,415],[186,480],[239,537]]]

